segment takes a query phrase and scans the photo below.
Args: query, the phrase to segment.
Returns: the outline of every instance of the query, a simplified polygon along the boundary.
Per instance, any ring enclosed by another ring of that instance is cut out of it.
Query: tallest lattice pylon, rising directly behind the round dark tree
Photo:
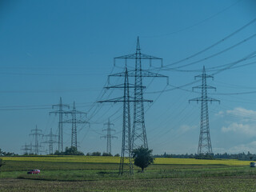
[[[127,59],[135,60],[135,70],[130,70],[128,72],[129,77],[134,77],[134,122],[132,130],[132,150],[138,146],[143,146],[148,148],[147,138],[146,138],[146,127],[145,127],[145,118],[144,118],[144,104],[143,104],[143,86],[142,78],[167,78],[168,77],[162,74],[155,74],[147,70],[142,70],[142,60],[150,60],[150,65],[152,60],[160,60],[162,66],[162,58],[157,58],[147,54],[141,53],[141,48],[139,45],[139,38],[137,38],[137,48],[135,54],[128,54],[114,58],[114,65],[116,59],[125,59],[127,65]],[[110,76],[125,76],[125,73],[113,74]]]

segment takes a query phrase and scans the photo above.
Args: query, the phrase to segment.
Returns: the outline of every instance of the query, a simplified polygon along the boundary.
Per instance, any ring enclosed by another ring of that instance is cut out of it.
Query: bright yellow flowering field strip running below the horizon
[[[119,163],[119,157],[108,156],[38,156],[38,157],[3,157],[6,161],[34,161],[34,162],[91,162],[91,163]],[[248,166],[250,162],[233,159],[206,160],[194,158],[155,158],[154,164],[180,164],[180,165],[228,165]]]

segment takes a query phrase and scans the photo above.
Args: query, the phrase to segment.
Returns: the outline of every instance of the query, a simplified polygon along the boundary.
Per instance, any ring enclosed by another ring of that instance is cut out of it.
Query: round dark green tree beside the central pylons
[[[142,173],[147,166],[154,162],[152,151],[153,150],[149,150],[143,146],[140,146],[132,152],[134,165],[140,167],[142,169]]]

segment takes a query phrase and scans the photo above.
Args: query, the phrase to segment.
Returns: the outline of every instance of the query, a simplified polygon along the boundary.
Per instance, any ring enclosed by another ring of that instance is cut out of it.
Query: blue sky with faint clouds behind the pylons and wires
[[[122,96],[121,90],[103,87],[109,74],[123,71],[124,63],[114,66],[113,58],[133,54],[139,36],[142,53],[163,58],[169,67],[142,63],[143,69],[170,78],[168,86],[161,78],[143,80],[144,98],[154,100],[145,104],[146,134],[154,154],[197,152],[200,105],[188,100],[200,96],[191,90],[200,84],[194,76],[202,73],[202,66],[207,74],[216,73],[214,80],[207,79],[217,88],[209,96],[221,100],[209,104],[214,153],[256,153],[256,22],[246,26],[256,18],[255,10],[254,0],[2,0],[0,148],[21,154],[22,145],[34,141],[29,134],[36,125],[42,134],[50,128],[58,134],[58,116],[49,112],[62,97],[70,107],[75,101],[77,110],[88,112],[90,127],[78,125],[79,150],[106,151],[106,140],[100,137],[110,118],[118,136],[112,152],[120,154],[122,105],[95,102]],[[220,71],[229,63],[234,65]],[[128,66],[133,69],[134,62]],[[122,78],[111,79],[112,85],[118,83]],[[182,89],[174,89],[178,86]],[[71,125],[63,131],[64,146],[70,146]]]

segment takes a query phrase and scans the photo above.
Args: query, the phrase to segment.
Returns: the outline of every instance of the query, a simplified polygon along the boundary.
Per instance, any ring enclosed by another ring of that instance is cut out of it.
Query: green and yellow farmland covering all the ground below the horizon
[[[0,191],[256,191],[247,161],[156,158],[145,173],[118,176],[116,157],[3,158]],[[39,169],[41,174],[28,175]]]

